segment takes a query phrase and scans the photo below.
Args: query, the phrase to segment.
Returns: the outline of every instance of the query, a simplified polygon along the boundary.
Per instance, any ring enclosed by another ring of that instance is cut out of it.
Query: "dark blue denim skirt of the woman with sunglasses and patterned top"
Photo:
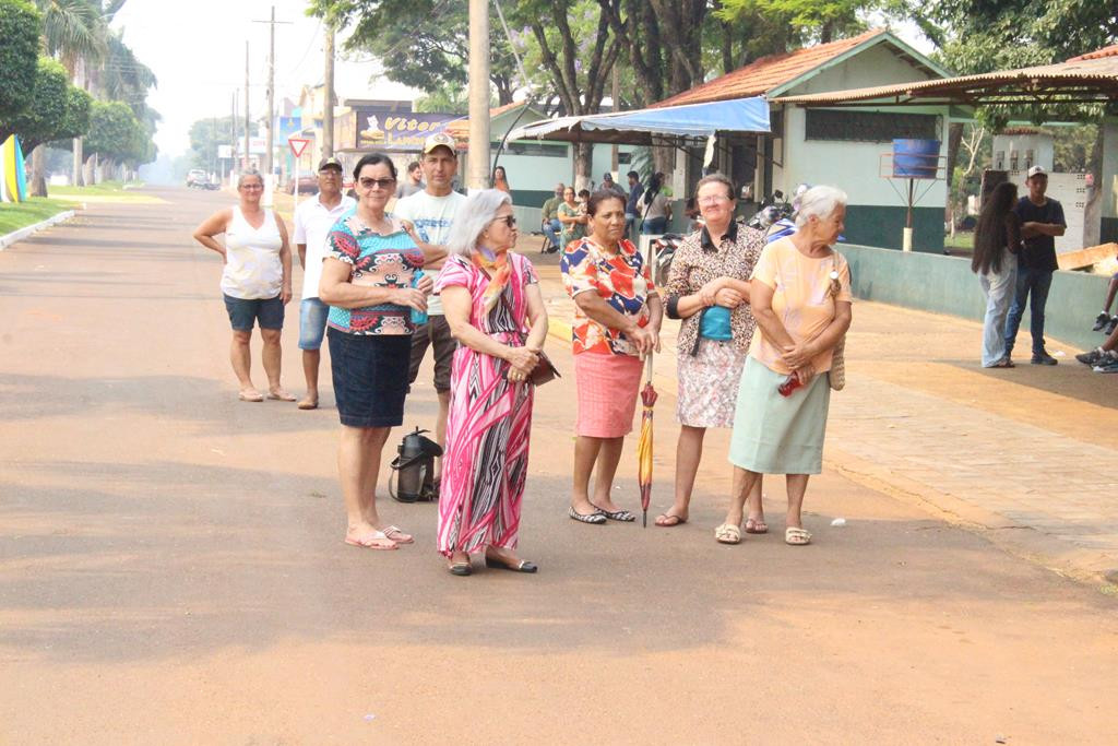
[[[404,423],[411,334],[326,331],[338,416],[349,427]]]

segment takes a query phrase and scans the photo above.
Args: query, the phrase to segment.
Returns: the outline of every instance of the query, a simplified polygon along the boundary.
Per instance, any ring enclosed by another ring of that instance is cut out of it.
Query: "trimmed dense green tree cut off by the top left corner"
[[[0,128],[31,101],[42,19],[22,0],[0,0]]]

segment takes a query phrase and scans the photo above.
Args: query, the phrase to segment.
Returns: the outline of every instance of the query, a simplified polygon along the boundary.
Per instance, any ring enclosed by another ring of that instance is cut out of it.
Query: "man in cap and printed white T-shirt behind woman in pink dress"
[[[423,145],[420,160],[426,187],[410,197],[396,202],[392,216],[409,220],[411,238],[423,249],[426,264],[424,273],[432,280],[438,278],[438,270],[446,258],[446,239],[451,234],[454,215],[466,198],[454,191],[454,177],[458,172],[458,157],[454,138],[445,132],[428,135]],[[443,304],[437,295],[427,299],[427,323],[416,327],[411,334],[411,371],[408,379],[414,384],[419,375],[419,366],[427,348],[435,353],[435,393],[438,394],[438,419],[435,423],[435,440],[446,445],[446,415],[451,407],[451,358],[457,343],[451,336],[451,327],[443,315]],[[435,492],[437,495],[442,479],[442,459],[435,461]]]

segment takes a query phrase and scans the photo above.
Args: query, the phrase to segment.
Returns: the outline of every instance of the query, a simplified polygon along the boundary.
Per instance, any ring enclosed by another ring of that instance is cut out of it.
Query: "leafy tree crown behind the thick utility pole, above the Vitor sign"
[[[500,103],[508,104],[515,62],[490,8],[490,81]],[[470,13],[462,0],[312,0],[307,12],[337,23],[335,28],[354,23],[344,48],[376,56],[390,81],[428,94],[468,82]]]

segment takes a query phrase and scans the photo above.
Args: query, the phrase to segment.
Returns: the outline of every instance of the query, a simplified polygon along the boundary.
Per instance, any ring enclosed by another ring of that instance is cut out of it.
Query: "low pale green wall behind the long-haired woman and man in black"
[[[854,296],[934,313],[982,321],[986,304],[970,259],[843,244]],[[1102,341],[1091,322],[1102,308],[1107,278],[1082,272],[1057,272],[1044,314],[1044,334],[1081,349]],[[1029,310],[1017,337],[1017,356],[1027,355]],[[903,330],[898,330],[902,333]]]

